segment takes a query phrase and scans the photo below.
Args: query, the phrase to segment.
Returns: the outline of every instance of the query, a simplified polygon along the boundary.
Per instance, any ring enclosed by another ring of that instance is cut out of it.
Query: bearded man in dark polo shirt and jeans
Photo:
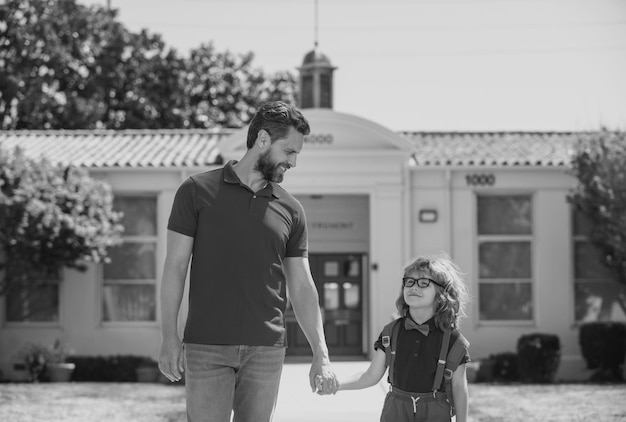
[[[285,356],[287,293],[313,351],[313,391],[335,393],[302,205],[278,183],[296,166],[309,124],[295,107],[266,103],[252,118],[241,161],[189,177],[168,223],[161,285],[159,368],[185,371],[189,421],[269,421]],[[184,347],[177,315],[189,259]],[[317,383],[317,386],[316,386]]]

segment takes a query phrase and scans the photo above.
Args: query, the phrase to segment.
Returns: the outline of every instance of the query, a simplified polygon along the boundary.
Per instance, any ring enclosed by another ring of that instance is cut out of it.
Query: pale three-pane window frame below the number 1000
[[[536,256],[535,256],[535,236],[536,236],[536,192],[520,191],[498,191],[476,189],[473,191],[474,200],[474,262],[476,263],[475,280],[477,287],[476,300],[474,301],[474,312],[477,324],[480,326],[535,326],[537,323],[537,295],[536,295]],[[527,197],[530,200],[530,233],[529,234],[480,234],[478,232],[479,197]],[[481,278],[480,275],[480,245],[482,243],[513,243],[527,242],[530,248],[530,278]],[[483,319],[481,317],[480,288],[484,284],[528,284],[530,287],[530,303],[532,305],[531,317],[529,319]]]

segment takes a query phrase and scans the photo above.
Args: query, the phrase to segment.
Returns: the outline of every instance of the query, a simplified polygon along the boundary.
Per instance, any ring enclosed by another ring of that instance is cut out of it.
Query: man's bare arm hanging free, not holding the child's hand
[[[184,371],[183,347],[178,335],[178,312],[185,288],[193,237],[167,231],[167,254],[161,280],[161,350],[159,369],[170,381]]]

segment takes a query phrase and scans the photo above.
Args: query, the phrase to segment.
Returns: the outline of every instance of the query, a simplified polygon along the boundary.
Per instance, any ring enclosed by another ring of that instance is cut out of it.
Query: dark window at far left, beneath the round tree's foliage
[[[27,287],[17,286],[6,295],[7,322],[58,322],[59,281],[58,274],[41,275]]]

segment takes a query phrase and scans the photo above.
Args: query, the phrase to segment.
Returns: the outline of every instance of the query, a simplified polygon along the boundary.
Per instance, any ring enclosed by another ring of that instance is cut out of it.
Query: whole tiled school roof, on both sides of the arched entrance
[[[0,145],[88,168],[203,167],[223,163],[233,130],[0,131]],[[566,167],[591,132],[399,132],[417,167]]]

